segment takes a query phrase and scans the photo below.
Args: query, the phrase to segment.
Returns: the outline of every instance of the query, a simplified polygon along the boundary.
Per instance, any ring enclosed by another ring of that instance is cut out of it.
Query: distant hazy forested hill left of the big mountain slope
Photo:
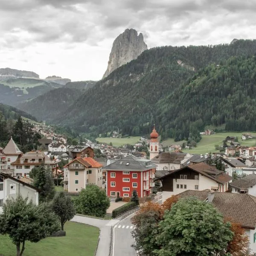
[[[73,104],[80,94],[81,90],[62,87],[50,90],[35,99],[21,102],[17,107],[32,114],[38,120],[52,122],[64,109]]]

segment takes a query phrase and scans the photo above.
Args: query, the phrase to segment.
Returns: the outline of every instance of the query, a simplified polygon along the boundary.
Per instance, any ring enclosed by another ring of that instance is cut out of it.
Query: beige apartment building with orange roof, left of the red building
[[[77,157],[64,166],[64,189],[80,192],[88,184],[102,187],[102,167],[92,157]]]

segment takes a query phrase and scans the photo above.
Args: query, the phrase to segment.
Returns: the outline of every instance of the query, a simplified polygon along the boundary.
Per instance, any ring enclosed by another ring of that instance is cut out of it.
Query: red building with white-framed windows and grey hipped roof
[[[131,197],[133,190],[137,190],[139,198],[152,193],[156,165],[151,160],[128,155],[102,170],[106,171],[109,197]]]

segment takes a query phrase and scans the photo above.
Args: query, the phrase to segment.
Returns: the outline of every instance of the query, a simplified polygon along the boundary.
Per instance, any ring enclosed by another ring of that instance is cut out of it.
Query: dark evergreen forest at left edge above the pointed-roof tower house
[[[23,120],[20,115],[34,119],[23,111],[0,104],[0,147],[5,147],[11,136],[23,152],[38,145],[41,135],[32,131],[32,124]]]

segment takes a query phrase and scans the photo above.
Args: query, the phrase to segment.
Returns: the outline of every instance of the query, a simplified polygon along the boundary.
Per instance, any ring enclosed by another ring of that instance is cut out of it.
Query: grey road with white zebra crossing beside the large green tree
[[[134,244],[134,239],[131,236],[131,230],[134,228],[131,224],[133,215],[124,218],[114,226],[112,256],[137,256],[136,250],[131,247]]]

